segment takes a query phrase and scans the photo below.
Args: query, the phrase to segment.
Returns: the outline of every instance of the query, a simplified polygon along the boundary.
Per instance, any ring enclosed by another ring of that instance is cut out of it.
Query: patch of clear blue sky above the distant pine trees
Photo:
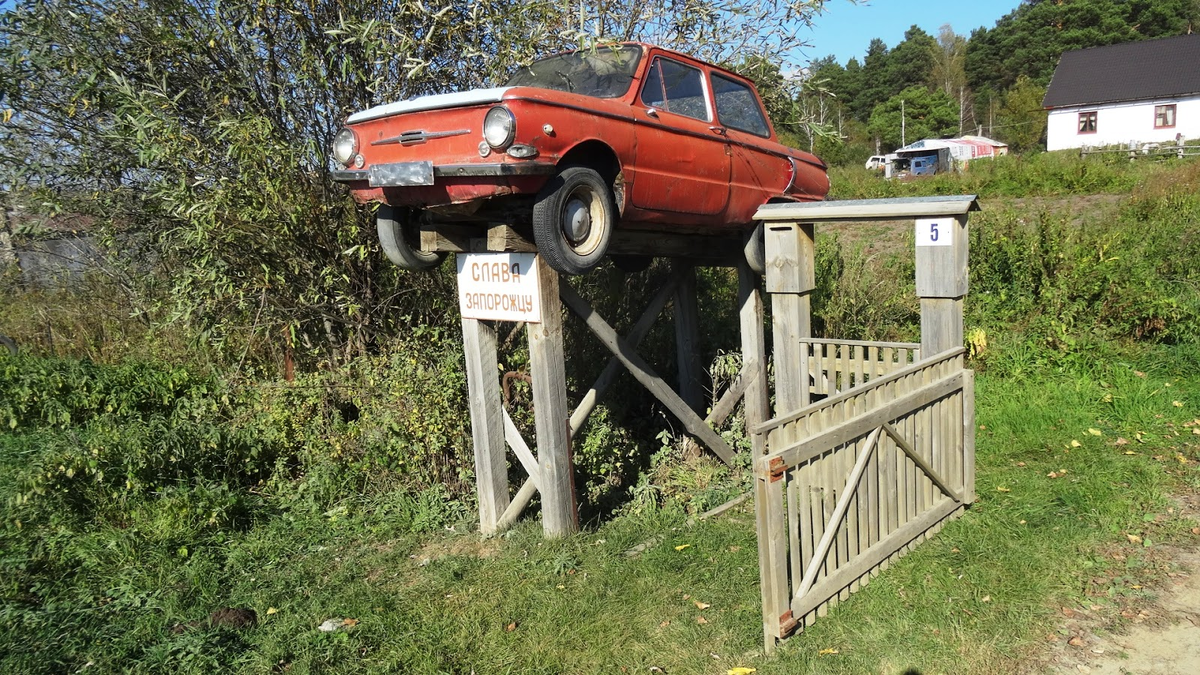
[[[996,19],[1012,12],[1020,0],[870,0],[851,5],[847,0],[828,0],[826,12],[816,17],[800,62],[833,54],[846,65],[851,56],[863,62],[866,46],[872,37],[895,47],[904,40],[904,31],[917,24],[925,32],[937,36],[942,24],[950,24],[954,32],[971,31],[996,25]]]

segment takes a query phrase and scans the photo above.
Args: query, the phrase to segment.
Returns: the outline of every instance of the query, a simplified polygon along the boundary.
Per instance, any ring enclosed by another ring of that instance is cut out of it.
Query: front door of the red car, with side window
[[[631,199],[644,210],[720,214],[730,197],[730,149],[701,68],[656,55],[634,107],[637,173]]]

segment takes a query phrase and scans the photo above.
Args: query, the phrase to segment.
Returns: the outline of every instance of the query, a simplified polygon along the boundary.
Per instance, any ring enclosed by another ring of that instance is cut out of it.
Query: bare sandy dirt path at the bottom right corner
[[[1170,551],[1177,572],[1148,607],[1122,611],[1128,627],[1109,633],[1087,610],[1064,609],[1068,638],[1054,647],[1054,673],[1091,675],[1200,674],[1200,549]]]

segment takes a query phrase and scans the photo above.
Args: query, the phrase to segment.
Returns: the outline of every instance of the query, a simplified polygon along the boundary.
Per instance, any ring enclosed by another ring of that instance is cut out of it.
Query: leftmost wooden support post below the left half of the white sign
[[[509,506],[504,416],[500,407],[500,383],[496,376],[496,329],[486,321],[462,319],[462,348],[467,357],[479,530],[484,534],[491,534],[496,532],[500,515]]]

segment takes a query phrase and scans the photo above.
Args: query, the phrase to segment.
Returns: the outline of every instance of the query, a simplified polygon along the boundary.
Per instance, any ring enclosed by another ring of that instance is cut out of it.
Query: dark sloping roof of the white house
[[[1046,108],[1200,94],[1200,34],[1067,52]]]

